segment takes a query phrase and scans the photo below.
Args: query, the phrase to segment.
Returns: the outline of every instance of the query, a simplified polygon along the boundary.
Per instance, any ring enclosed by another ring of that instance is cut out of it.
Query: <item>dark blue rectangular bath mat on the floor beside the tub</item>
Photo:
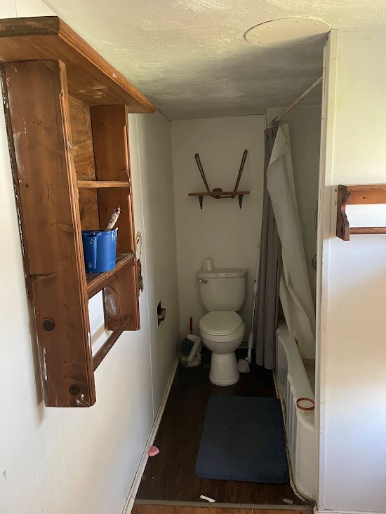
[[[279,400],[211,396],[195,473],[214,480],[289,482]]]

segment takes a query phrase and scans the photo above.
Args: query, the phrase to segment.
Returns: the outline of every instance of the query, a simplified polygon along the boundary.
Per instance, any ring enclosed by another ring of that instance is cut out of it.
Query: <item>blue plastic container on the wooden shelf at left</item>
[[[115,268],[118,229],[82,230],[86,273],[103,273]]]

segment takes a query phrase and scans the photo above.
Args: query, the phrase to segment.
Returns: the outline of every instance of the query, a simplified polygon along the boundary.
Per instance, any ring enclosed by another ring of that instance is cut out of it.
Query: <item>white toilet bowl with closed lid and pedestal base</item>
[[[217,386],[232,386],[239,380],[234,351],[244,339],[244,321],[233,311],[211,311],[200,320],[200,334],[212,351],[209,380]]]

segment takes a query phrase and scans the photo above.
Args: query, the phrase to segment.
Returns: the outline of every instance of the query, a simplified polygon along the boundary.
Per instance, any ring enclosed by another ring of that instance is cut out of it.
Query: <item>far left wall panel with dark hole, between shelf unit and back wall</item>
[[[129,128],[131,163],[140,168],[142,188],[155,416],[175,363],[179,342],[171,122],[159,113],[129,116],[129,122],[134,117],[137,133],[133,123]],[[137,156],[134,156],[135,139]],[[166,309],[166,320],[158,327],[159,301]]]

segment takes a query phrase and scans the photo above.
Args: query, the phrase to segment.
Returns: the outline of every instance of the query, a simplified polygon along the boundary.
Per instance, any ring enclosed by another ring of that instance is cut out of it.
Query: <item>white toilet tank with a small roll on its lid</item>
[[[246,296],[246,269],[200,269],[197,280],[201,300],[207,311],[241,311]]]

